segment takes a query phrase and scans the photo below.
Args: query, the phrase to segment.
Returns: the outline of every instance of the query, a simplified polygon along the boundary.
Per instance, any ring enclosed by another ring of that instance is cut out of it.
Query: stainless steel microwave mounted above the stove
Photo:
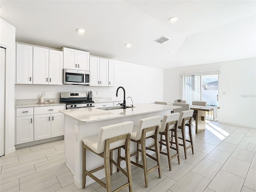
[[[63,69],[63,84],[90,85],[90,71]]]

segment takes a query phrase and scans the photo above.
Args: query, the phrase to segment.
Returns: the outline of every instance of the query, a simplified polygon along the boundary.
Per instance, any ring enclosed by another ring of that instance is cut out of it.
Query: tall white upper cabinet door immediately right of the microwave
[[[99,86],[100,59],[90,57],[90,86]]]

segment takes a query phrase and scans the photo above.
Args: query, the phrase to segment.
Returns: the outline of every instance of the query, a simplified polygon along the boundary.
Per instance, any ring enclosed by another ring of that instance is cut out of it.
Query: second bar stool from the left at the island
[[[161,178],[161,168],[160,168],[160,155],[159,155],[159,145],[158,145],[158,134],[159,134],[159,125],[160,125],[161,116],[154,116],[141,119],[138,124],[138,129],[136,132],[132,132],[131,141],[136,142],[137,148],[136,152],[131,154],[131,156],[136,155],[136,162],[131,161],[132,164],[138,166],[144,170],[144,179],[145,186],[148,187],[148,173],[152,172],[155,169],[158,169],[158,176]],[[146,147],[146,139],[153,138],[154,146],[156,148],[156,158],[147,154],[146,150],[152,150],[152,146]],[[141,149],[139,148],[141,145]],[[139,152],[142,153],[142,165],[139,164]],[[155,160],[157,165],[148,170],[146,156]],[[124,158],[121,158],[124,160]]]

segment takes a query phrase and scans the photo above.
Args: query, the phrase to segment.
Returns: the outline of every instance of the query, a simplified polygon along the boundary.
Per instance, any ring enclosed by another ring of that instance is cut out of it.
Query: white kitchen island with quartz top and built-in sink
[[[113,109],[94,107],[60,110],[65,114],[65,157],[66,164],[74,174],[74,184],[78,189],[82,188],[82,139],[99,133],[103,126],[132,121],[134,128],[142,118],[150,116],[164,116],[170,114],[171,110],[180,106],[159,105],[159,104],[136,104],[134,108]],[[97,141],[95,141],[97,142]],[[136,144],[131,143],[131,153],[135,151]],[[116,154],[114,154],[114,158]],[[103,165],[102,158],[86,152],[86,168],[92,170]],[[113,172],[116,172],[113,169]],[[95,172],[98,178],[104,178],[104,170]],[[93,183],[92,178],[86,178],[86,186]]]

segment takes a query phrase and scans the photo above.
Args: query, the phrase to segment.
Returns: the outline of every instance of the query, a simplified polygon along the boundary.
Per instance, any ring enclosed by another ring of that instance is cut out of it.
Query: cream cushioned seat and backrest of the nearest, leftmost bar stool
[[[98,135],[86,137],[82,141],[91,150],[100,154],[104,151],[104,145],[105,145],[106,139],[120,136],[123,134],[128,134],[128,133],[131,134],[132,126],[133,126],[132,121],[127,121],[127,122],[118,123],[118,124],[114,124],[114,125],[104,126],[104,127],[100,128]],[[123,146],[124,144],[125,144],[125,139],[111,143],[110,150],[117,148],[119,146]]]

